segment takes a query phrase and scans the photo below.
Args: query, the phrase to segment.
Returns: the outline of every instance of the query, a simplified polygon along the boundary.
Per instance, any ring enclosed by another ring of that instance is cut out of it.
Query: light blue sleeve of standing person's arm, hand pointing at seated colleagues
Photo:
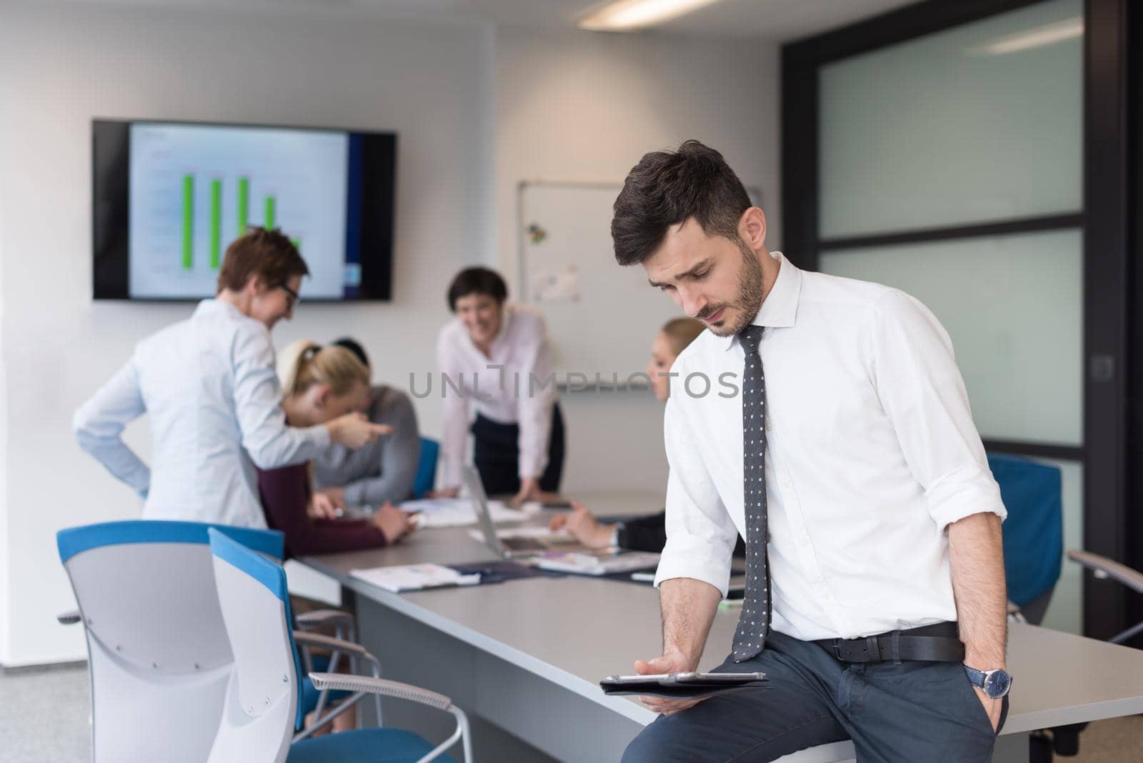
[[[305,428],[286,425],[281,387],[274,371],[274,351],[265,331],[250,328],[235,335],[234,410],[242,447],[261,469],[301,464],[329,445],[325,425]]]

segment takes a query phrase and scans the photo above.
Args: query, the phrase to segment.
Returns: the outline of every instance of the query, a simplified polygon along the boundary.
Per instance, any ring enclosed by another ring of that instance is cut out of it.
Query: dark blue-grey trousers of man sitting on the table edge
[[[960,662],[839,662],[812,642],[772,633],[752,660],[719,673],[769,677],[661,715],[623,763],[761,763],[852,739],[858,763],[988,763],[996,733]],[[1004,700],[1000,723],[1008,715]]]

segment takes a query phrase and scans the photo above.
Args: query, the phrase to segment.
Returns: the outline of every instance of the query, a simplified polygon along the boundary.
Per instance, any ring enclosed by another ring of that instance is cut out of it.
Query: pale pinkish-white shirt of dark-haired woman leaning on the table
[[[520,426],[521,480],[543,474],[557,392],[547,330],[539,312],[505,305],[490,356],[472,343],[461,319],[449,321],[437,342],[437,366],[443,377],[439,380],[445,397],[445,487],[461,484],[470,403],[487,419]]]

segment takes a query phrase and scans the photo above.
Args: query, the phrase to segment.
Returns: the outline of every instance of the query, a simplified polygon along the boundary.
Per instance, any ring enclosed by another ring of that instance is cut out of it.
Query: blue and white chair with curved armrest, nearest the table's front
[[[286,572],[280,564],[253,553],[211,529],[215,588],[231,649],[233,680],[226,690],[223,721],[208,763],[455,763],[445,754],[462,740],[465,763],[472,760],[467,717],[448,697],[393,681],[355,675],[313,674],[319,689],[354,692],[333,715],[347,710],[366,694],[385,694],[422,702],[456,717],[456,730],[433,747],[400,729],[358,729],[306,739],[301,728],[301,664],[290,629]]]

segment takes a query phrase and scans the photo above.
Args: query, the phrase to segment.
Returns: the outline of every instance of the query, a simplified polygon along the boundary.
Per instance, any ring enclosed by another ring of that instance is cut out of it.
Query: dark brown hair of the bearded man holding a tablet
[[[750,206],[746,188],[722,154],[698,140],[644,154],[615,199],[615,259],[620,265],[642,263],[668,228],[692,217],[706,235],[737,241],[738,219]]]

